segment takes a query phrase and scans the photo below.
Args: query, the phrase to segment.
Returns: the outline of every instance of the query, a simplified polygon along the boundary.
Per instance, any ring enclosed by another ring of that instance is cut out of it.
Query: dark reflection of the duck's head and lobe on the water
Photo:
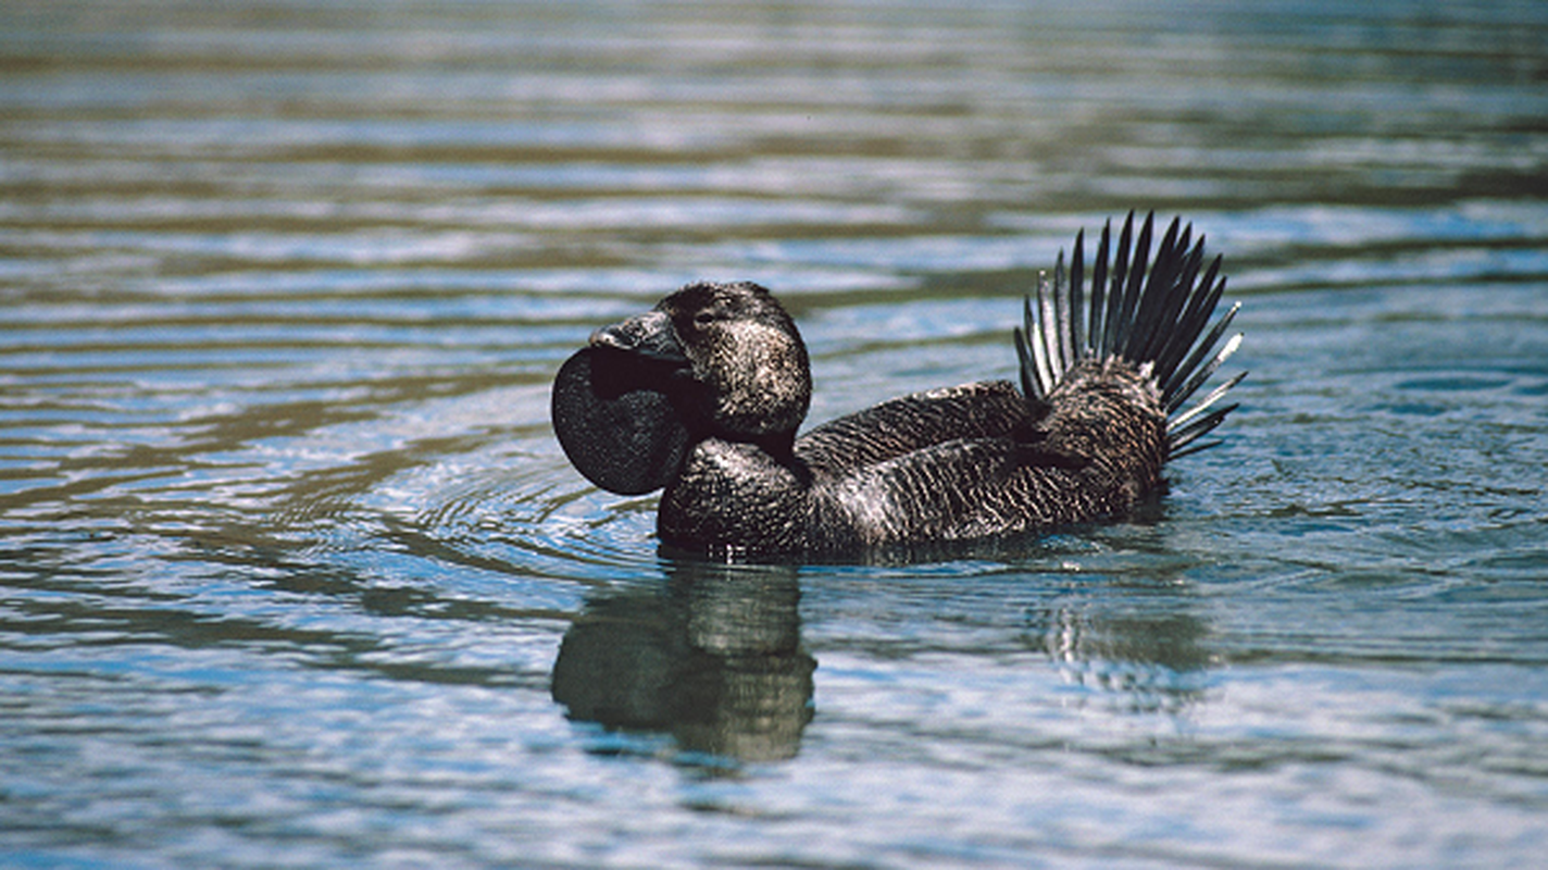
[[[666,584],[587,602],[554,663],[570,718],[672,734],[743,762],[793,757],[816,659],[800,650],[796,570],[676,562]]]

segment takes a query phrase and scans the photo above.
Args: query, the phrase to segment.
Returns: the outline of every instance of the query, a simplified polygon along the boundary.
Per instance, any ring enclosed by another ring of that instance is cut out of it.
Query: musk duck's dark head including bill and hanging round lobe
[[[553,420],[580,474],[635,495],[670,483],[704,438],[788,458],[810,404],[807,347],[769,291],[698,282],[591,333],[554,379]]]

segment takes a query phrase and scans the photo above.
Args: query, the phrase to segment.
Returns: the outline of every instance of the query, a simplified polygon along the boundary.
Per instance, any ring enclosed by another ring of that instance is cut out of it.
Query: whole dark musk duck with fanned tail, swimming
[[[661,489],[664,546],[717,559],[853,557],[1121,519],[1238,406],[1245,372],[1183,406],[1240,347],[1226,277],[1173,218],[1108,220],[1059,252],[1012,330],[1019,382],[882,401],[797,433],[807,347],[774,294],[700,280],[591,333],[560,365],[556,437],[593,485]],[[1152,248],[1155,251],[1152,252]]]

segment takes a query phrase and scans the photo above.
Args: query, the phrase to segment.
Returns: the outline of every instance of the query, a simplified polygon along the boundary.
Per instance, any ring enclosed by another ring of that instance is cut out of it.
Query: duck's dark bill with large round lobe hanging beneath
[[[689,432],[670,390],[687,358],[661,311],[591,333],[554,376],[550,412],[565,457],[591,483],[621,495],[676,477]]]

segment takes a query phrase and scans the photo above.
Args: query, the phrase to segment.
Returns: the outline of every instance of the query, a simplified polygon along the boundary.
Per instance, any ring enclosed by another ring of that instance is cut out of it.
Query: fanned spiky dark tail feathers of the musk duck
[[[1031,299],[1025,302],[1015,353],[1022,392],[1028,401],[1043,406],[1079,362],[1118,358],[1149,365],[1167,413],[1169,455],[1176,458],[1218,444],[1201,438],[1237,407],[1215,406],[1246,372],[1178,412],[1241,344],[1241,333],[1224,337],[1240,303],[1211,325],[1226,288],[1221,259],[1217,255],[1206,266],[1204,237],[1195,240],[1192,224],[1183,226],[1181,218],[1172,218],[1152,259],[1153,229],[1152,212],[1136,235],[1135,214],[1128,212],[1115,243],[1111,221],[1107,221],[1091,259],[1090,293],[1085,286],[1085,231],[1081,231],[1068,271],[1060,251],[1053,283],[1039,279],[1036,305]]]

